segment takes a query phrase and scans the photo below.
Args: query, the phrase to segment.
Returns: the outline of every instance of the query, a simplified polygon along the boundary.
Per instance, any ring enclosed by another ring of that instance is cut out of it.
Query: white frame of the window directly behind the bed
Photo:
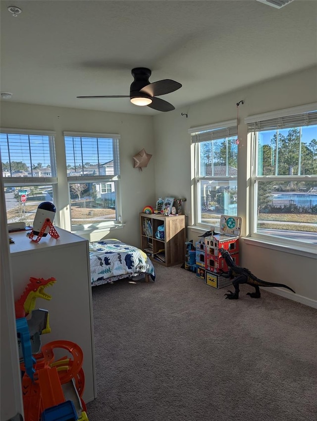
[[[80,138],[104,138],[113,139],[113,164],[114,175],[81,175],[81,176],[67,176],[68,195],[69,195],[69,217],[71,222],[71,199],[70,199],[70,184],[73,183],[114,183],[115,186],[115,204],[116,204],[116,219],[111,221],[95,222],[90,224],[71,224],[71,231],[80,233],[87,231],[96,231],[98,229],[111,228],[122,224],[122,206],[121,206],[121,189],[120,189],[120,158],[119,158],[119,140],[120,135],[117,133],[87,133],[87,132],[68,132],[64,131],[65,137],[80,137]]]

